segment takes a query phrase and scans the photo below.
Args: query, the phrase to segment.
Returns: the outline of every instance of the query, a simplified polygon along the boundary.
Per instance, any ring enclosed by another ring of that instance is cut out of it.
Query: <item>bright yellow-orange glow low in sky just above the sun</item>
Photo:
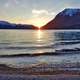
[[[31,24],[38,28],[45,25],[49,19],[47,18],[31,18],[31,19],[21,19],[21,18],[14,18],[10,19],[10,22],[17,23],[17,24]]]

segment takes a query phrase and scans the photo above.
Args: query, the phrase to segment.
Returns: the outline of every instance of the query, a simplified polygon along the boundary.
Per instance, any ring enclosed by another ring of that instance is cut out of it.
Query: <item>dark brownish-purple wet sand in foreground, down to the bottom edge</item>
[[[80,71],[56,68],[43,71],[38,68],[12,68],[1,64],[0,80],[80,80]]]

